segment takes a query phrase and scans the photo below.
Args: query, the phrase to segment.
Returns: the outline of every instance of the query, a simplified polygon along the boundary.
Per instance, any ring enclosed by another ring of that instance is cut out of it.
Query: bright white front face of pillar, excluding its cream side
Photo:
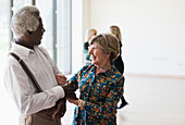
[[[72,73],[83,64],[83,0],[72,0]]]

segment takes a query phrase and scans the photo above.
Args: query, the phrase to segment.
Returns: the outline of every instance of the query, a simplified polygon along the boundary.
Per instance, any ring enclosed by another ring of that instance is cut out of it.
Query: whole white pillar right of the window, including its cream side
[[[89,0],[72,0],[72,74],[85,63],[83,43],[90,22],[89,3]]]

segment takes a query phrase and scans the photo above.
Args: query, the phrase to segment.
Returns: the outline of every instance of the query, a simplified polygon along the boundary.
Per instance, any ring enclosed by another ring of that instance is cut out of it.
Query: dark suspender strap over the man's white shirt
[[[36,78],[34,77],[33,73],[30,72],[30,70],[27,67],[27,65],[25,64],[25,62],[15,53],[10,52],[11,55],[13,55],[17,62],[21,64],[21,66],[23,67],[23,70],[25,71],[25,73],[27,74],[27,76],[33,80],[33,85],[34,87],[37,89],[37,92],[41,92],[41,88],[38,85]]]

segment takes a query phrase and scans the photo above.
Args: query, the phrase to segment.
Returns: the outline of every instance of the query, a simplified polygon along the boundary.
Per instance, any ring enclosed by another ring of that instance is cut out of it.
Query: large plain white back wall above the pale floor
[[[127,74],[185,76],[185,0],[89,0],[88,5],[86,28],[102,33],[120,26]]]

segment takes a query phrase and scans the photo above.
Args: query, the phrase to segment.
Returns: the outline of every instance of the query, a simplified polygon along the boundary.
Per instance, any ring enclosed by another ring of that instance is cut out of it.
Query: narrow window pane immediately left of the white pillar
[[[57,11],[57,62],[64,74],[72,72],[71,0],[59,0]]]

